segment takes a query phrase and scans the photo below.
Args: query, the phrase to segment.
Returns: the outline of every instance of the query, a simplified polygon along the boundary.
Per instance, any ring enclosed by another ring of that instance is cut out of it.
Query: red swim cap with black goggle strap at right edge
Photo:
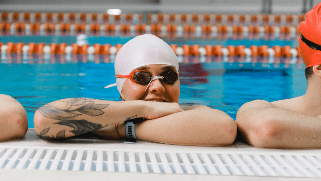
[[[321,3],[314,6],[305,16],[307,19],[300,24],[300,52],[306,67],[321,64]],[[302,40],[305,40],[304,42]],[[311,48],[313,47],[313,48]]]

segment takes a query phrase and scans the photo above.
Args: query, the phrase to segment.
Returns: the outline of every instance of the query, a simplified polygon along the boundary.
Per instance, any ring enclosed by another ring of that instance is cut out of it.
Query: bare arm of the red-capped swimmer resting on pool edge
[[[244,104],[236,124],[244,139],[259,148],[321,148],[321,119],[277,108],[264,100]]]

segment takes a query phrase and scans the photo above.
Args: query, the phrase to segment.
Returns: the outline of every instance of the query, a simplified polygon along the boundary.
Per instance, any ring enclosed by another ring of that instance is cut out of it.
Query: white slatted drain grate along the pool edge
[[[321,155],[0,147],[0,168],[321,177]]]

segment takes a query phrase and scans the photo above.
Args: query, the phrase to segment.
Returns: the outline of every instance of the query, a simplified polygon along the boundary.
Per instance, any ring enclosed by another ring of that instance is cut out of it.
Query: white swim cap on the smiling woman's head
[[[151,64],[173,65],[178,71],[178,60],[173,49],[152,34],[137,36],[123,45],[115,59],[115,74],[128,75],[134,69]],[[119,93],[126,78],[117,78]],[[106,86],[107,87],[107,86]]]

